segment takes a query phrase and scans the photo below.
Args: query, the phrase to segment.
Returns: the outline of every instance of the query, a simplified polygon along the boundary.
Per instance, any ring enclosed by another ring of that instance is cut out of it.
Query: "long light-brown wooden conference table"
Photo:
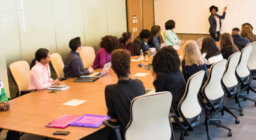
[[[177,50],[179,55],[182,55],[183,47],[184,45],[180,45],[181,49]],[[152,57],[149,57],[149,60],[152,61]],[[137,78],[143,81],[145,88],[154,89],[150,71],[146,71],[144,67],[137,67],[139,63],[138,61],[131,62],[130,77],[134,77],[133,75],[136,73],[148,73],[147,76],[137,76]],[[143,62],[143,64],[147,63]],[[101,69],[96,69],[95,72],[101,72]],[[74,79],[61,82],[61,84],[71,87],[66,91],[48,93],[48,90],[40,90],[9,101],[10,109],[0,111],[0,128],[57,139],[81,139],[103,129],[105,125],[101,125],[99,128],[68,126],[65,129],[58,129],[45,127],[45,124],[62,115],[107,115],[105,86],[118,81],[112,68],[107,75],[100,77],[95,82],[74,82]],[[86,102],[78,106],[62,105],[73,99],[86,100]],[[70,134],[66,136],[53,135],[55,131],[70,131]]]

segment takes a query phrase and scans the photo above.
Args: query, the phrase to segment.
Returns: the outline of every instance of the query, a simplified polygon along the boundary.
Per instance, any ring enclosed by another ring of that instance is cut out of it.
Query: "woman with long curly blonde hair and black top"
[[[202,53],[200,52],[198,45],[195,43],[195,41],[186,41],[182,57],[182,73],[186,82],[190,76],[201,70],[204,70],[206,73],[204,74],[202,81],[203,86],[208,79],[207,66],[206,62],[202,58]],[[201,92],[201,89],[199,92]]]

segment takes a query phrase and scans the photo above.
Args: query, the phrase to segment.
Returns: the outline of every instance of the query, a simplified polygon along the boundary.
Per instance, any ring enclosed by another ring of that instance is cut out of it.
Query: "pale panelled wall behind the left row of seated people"
[[[121,37],[123,32],[127,32],[125,0],[0,1],[0,46],[6,48],[7,66],[18,60],[31,63],[39,48],[58,52],[65,60],[69,40],[78,36],[84,46],[97,51],[101,37]]]

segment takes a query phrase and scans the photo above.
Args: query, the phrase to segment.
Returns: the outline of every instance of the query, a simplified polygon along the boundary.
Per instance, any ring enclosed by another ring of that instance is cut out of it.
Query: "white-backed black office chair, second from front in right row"
[[[171,121],[181,128],[180,140],[184,140],[184,135],[189,135],[188,131],[194,131],[195,127],[205,124],[206,116],[197,98],[204,73],[202,70],[188,79],[185,94],[178,104],[178,113],[174,112],[175,109],[172,108],[175,115]]]

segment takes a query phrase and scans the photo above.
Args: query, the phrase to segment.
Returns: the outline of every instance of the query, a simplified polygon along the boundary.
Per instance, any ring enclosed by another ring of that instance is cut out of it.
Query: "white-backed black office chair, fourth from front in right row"
[[[241,86],[238,83],[236,74],[235,74],[236,67],[239,62],[240,54],[241,54],[240,52],[236,52],[228,58],[226,69],[221,79],[221,84],[223,86],[225,93],[227,94],[227,97],[235,96],[236,103],[238,103],[238,106],[239,106],[239,108],[236,108],[236,107],[228,107],[228,108],[239,110],[240,116],[244,116],[244,113],[242,112],[242,107],[238,99],[238,93],[241,90]]]

